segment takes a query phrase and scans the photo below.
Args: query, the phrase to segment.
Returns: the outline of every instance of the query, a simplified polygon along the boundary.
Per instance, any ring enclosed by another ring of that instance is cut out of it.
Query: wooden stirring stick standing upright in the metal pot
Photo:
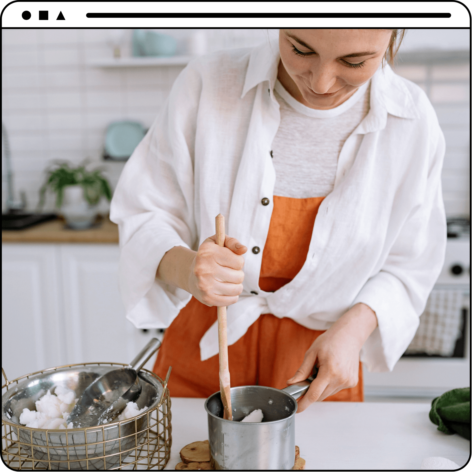
[[[215,219],[216,244],[225,245],[225,217],[220,213]],[[228,337],[226,332],[226,306],[218,307],[218,347],[219,347],[219,391],[223,402],[223,418],[233,421],[231,410],[231,382],[228,367]]]

